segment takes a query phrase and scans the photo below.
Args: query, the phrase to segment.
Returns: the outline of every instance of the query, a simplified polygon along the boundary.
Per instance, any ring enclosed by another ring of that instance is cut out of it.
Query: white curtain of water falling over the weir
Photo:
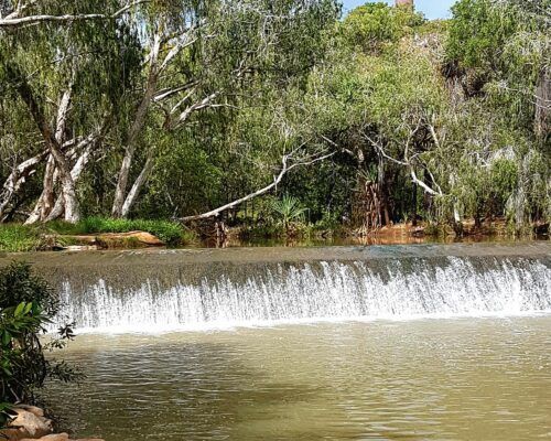
[[[64,277],[60,323],[163,332],[321,320],[409,320],[551,312],[547,257],[209,263],[86,283]],[[125,282],[125,277],[128,282]]]

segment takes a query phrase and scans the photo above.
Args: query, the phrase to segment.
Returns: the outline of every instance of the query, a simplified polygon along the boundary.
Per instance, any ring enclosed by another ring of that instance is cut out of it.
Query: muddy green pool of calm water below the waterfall
[[[144,330],[147,331],[147,330]],[[551,440],[551,316],[78,336],[48,391],[107,441]]]

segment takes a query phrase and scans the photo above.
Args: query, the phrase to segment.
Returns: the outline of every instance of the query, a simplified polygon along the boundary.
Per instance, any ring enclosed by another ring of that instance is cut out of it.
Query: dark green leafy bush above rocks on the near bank
[[[28,263],[0,269],[0,401],[33,402],[47,378],[69,381],[79,374],[64,362],[45,357],[73,337],[72,325],[47,343],[41,334],[60,310],[60,301]]]

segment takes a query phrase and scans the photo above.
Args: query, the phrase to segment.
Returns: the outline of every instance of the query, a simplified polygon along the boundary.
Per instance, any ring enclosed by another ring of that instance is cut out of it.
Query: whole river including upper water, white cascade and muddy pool
[[[551,439],[549,243],[12,258],[77,321],[80,437]]]

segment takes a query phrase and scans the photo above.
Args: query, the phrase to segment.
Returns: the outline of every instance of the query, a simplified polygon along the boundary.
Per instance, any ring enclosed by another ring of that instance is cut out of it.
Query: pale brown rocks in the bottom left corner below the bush
[[[8,441],[104,441],[98,438],[72,439],[68,433],[54,433],[52,420],[39,407],[18,406],[13,412],[15,416],[8,427],[0,430],[0,438]]]

